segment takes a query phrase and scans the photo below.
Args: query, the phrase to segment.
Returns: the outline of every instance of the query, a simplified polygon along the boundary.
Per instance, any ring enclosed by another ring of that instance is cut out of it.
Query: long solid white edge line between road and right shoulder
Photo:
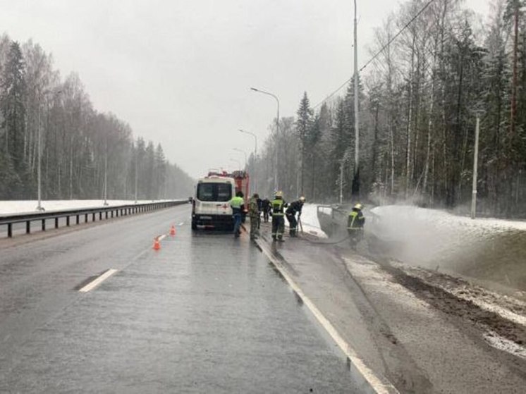
[[[256,244],[259,246],[259,250],[261,250],[264,254],[267,255],[267,257],[270,259],[272,264],[276,267],[276,269],[281,273],[283,278],[287,281],[288,285],[292,290],[300,297],[300,299],[303,301],[303,304],[309,308],[310,312],[314,315],[314,317],[317,319],[319,324],[322,325],[323,328],[331,335],[331,338],[336,342],[338,347],[340,347],[341,351],[345,354],[345,356],[348,357],[348,362],[352,364],[355,369],[357,369],[358,374],[362,376],[363,379],[367,382],[370,388],[372,388],[374,393],[377,394],[393,394],[398,393],[398,390],[391,384],[391,383],[384,383],[381,381],[381,379],[374,374],[372,369],[367,367],[367,365],[362,361],[360,357],[357,356],[355,350],[353,350],[352,347],[343,339],[343,337],[338,333],[336,328],[331,324],[329,319],[327,319],[324,314],[314,305],[314,302],[312,302],[305,293],[300,289],[300,287],[293,281],[292,278],[288,275],[286,269],[283,267],[281,262],[279,262],[272,252],[270,252],[267,249],[266,245],[262,245],[263,242],[257,240]]]

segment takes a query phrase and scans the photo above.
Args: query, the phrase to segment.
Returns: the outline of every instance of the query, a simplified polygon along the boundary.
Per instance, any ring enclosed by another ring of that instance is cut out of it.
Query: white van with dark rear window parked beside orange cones
[[[198,227],[233,230],[230,200],[235,193],[233,178],[208,176],[197,180],[192,202],[192,230]]]

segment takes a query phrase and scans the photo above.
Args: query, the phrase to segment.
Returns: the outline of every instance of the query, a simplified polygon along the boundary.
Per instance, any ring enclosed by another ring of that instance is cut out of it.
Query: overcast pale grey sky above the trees
[[[403,1],[358,0],[359,63],[374,27]],[[487,13],[489,0],[467,4]],[[195,178],[237,167],[276,115],[293,116],[353,73],[352,0],[0,0],[0,32],[32,38],[64,76],[75,71],[95,108],[161,142]]]

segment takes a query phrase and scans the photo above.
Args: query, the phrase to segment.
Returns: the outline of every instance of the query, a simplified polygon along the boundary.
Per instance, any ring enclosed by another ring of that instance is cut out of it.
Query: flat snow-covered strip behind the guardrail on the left
[[[168,201],[168,200],[156,200]],[[135,200],[127,199],[109,199],[109,206],[135,204]],[[137,204],[147,204],[152,202],[151,199],[137,201]],[[46,211],[60,211],[61,209],[81,209],[81,208],[97,208],[104,207],[104,200],[102,199],[61,199],[42,201],[42,207]],[[26,201],[1,201],[0,200],[0,215],[8,214],[23,214],[30,212],[37,212],[37,200]]]

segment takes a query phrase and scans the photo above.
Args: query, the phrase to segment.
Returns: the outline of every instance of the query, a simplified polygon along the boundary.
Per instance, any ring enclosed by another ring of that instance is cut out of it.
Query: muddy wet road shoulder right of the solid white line
[[[522,361],[491,347],[472,323],[417,297],[374,261],[309,239],[259,242],[365,364],[400,392],[522,390]]]

